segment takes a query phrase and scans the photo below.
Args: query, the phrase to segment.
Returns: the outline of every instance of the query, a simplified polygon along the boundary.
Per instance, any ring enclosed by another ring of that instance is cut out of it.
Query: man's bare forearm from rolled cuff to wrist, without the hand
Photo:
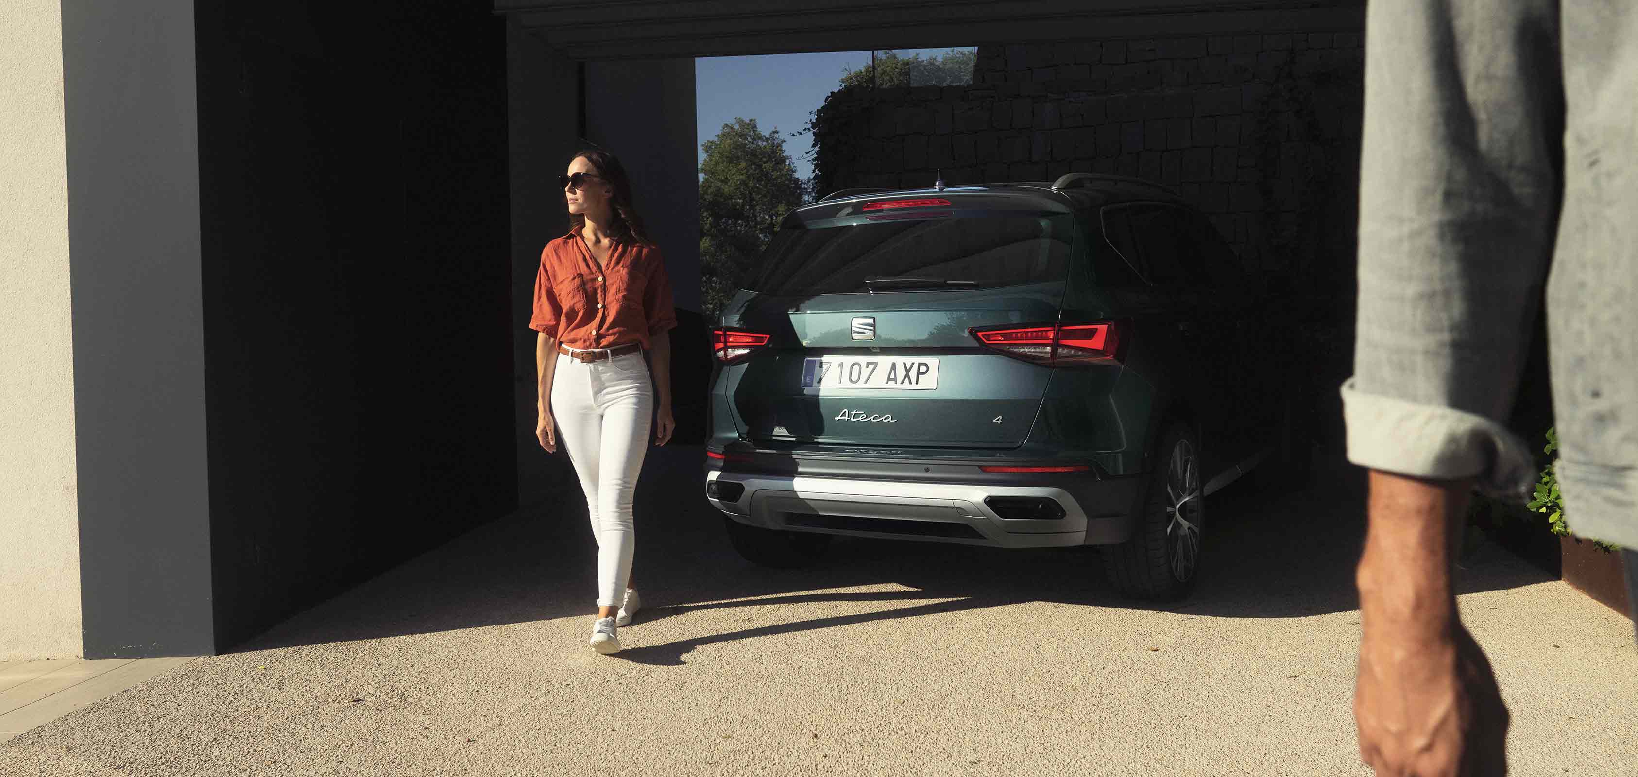
[[[1471,480],[1420,480],[1371,470],[1360,625],[1366,639],[1448,639],[1456,625],[1451,582]]]

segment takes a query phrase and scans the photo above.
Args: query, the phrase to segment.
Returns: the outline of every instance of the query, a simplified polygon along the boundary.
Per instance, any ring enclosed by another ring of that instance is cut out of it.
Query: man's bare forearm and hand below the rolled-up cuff
[[[1507,707],[1451,587],[1468,488],[1371,472],[1353,715],[1378,777],[1507,774]]]

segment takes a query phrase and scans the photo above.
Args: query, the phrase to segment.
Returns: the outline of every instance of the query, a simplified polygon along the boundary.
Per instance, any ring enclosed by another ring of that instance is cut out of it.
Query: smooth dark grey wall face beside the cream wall
[[[62,2],[85,657],[211,652],[192,0]]]

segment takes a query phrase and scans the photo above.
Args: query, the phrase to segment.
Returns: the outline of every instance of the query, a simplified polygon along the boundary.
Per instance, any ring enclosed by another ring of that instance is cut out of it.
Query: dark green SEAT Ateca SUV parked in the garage
[[[845,190],[794,210],[713,333],[706,495],[747,559],[832,534],[1102,546],[1184,595],[1204,498],[1305,477],[1291,326],[1171,190]]]

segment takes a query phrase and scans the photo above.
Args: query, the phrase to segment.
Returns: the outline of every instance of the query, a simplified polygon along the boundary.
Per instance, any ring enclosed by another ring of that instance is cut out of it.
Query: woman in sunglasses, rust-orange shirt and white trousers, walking
[[[654,444],[672,439],[672,282],[632,208],[613,154],[581,151],[562,179],[568,234],[547,243],[534,280],[536,438],[568,461],[586,492],[598,541],[598,620],[591,649],[619,651],[618,626],[640,602],[631,584],[637,474]],[[650,380],[644,351],[654,364]],[[658,408],[654,407],[658,395]]]

